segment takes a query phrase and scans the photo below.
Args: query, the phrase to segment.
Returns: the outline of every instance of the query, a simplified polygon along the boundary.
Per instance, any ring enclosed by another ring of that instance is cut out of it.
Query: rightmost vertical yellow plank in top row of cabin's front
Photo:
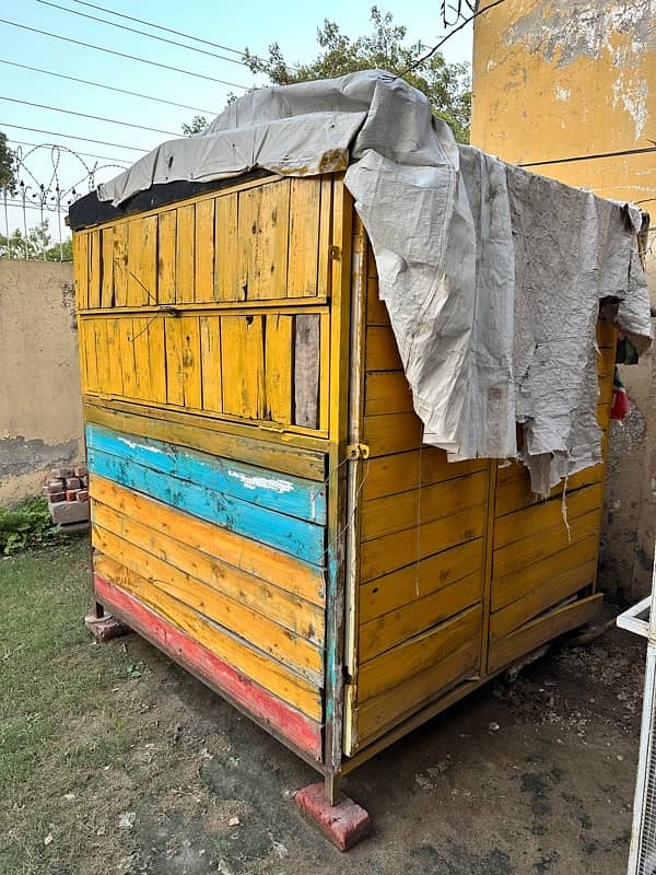
[[[290,180],[288,298],[317,294],[320,202],[320,178]]]

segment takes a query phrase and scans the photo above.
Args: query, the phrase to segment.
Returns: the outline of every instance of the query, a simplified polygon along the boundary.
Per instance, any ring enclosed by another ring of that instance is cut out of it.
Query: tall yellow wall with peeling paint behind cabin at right
[[[656,215],[656,152],[560,161],[653,145],[655,22],[654,0],[506,0],[491,9],[475,27],[472,143],[511,162],[555,162],[529,170]],[[622,378],[632,412],[611,430],[600,578],[634,597],[648,590],[656,536],[654,357],[623,368]]]

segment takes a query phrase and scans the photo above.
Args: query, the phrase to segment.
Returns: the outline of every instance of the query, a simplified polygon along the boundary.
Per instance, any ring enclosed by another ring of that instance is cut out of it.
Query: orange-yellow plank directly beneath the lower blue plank
[[[323,635],[321,608],[326,604],[326,594],[324,574],[318,569],[196,516],[184,516],[184,526],[180,528],[180,511],[104,477],[91,478],[90,493],[92,498],[132,520],[148,521],[157,532],[181,539],[191,549],[206,552],[233,569],[285,591],[293,596],[289,599],[292,608],[285,608],[286,614],[280,608],[281,617],[290,616],[290,610],[297,610],[295,599],[315,605],[318,608],[313,619],[315,634]],[[274,596],[276,590],[271,598]]]

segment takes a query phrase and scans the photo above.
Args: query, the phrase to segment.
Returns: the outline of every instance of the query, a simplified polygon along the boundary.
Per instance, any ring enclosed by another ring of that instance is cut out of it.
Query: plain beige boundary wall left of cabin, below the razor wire
[[[83,455],[70,262],[0,260],[0,506]]]

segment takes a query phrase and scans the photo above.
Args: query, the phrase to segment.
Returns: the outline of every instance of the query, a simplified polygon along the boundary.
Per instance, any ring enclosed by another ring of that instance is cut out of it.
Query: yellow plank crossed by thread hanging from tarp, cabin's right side
[[[575,520],[588,511],[600,509],[602,501],[604,486],[601,483],[594,483],[576,492],[567,493],[567,521]],[[562,525],[566,529],[563,504],[559,497],[497,517],[494,522],[494,549],[535,536],[537,532],[558,525]]]

